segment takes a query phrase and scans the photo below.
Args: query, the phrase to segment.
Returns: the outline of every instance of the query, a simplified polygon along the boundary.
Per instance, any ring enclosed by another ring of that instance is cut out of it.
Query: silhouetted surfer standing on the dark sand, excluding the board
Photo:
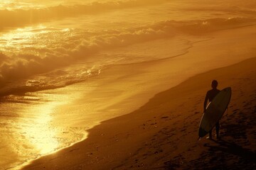
[[[213,80],[212,83],[211,83],[211,86],[212,86],[212,89],[207,91],[206,98],[205,98],[205,101],[203,103],[203,113],[206,112],[206,106],[207,106],[208,101],[210,103],[210,101],[212,101],[213,98],[220,92],[220,90],[217,89],[218,81]],[[219,138],[219,130],[220,130],[220,123],[219,122],[215,124],[215,129],[216,129],[216,138],[218,139]],[[209,137],[207,137],[207,138],[212,139],[212,130],[210,130]]]

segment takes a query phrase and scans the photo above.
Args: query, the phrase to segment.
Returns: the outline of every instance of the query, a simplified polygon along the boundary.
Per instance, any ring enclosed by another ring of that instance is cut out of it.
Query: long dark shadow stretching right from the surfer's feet
[[[209,150],[211,152],[225,152],[227,154],[233,154],[243,159],[247,159],[247,161],[255,162],[255,152],[251,151],[250,149],[243,148],[233,142],[227,142],[225,140],[212,140],[216,142],[218,146],[211,146],[208,145]]]

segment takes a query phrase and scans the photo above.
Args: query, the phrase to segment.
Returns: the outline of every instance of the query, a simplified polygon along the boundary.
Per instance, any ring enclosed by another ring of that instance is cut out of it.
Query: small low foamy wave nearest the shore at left
[[[26,79],[19,79],[18,81],[9,81],[0,89],[0,97],[2,101],[6,101],[9,95],[23,96],[27,92],[43,91],[48,89],[58,89],[71,84],[76,84],[91,77],[100,74],[100,68],[90,68],[85,71],[78,70],[75,72],[63,72],[54,70],[46,74],[40,74],[28,77]],[[78,74],[79,73],[79,74]],[[17,76],[17,75],[16,75]],[[20,102],[14,100],[14,102]],[[22,101],[23,102],[23,101]]]

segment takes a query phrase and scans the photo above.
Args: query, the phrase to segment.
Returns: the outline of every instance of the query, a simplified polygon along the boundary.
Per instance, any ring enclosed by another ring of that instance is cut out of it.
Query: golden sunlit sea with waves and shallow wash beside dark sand
[[[85,140],[156,86],[220,67],[198,64],[218,55],[181,56],[215,32],[254,26],[255,13],[255,1],[0,1],[0,169]]]

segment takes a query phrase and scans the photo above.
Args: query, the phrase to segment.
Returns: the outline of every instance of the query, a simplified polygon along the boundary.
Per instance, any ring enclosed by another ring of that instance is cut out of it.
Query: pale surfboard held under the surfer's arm
[[[225,110],[228,108],[230,98],[231,88],[227,87],[220,91],[215,98],[213,98],[213,101],[208,104],[199,125],[199,137],[204,137],[213,129],[215,124],[218,123],[220,118],[223,116],[223,113],[225,113]]]

